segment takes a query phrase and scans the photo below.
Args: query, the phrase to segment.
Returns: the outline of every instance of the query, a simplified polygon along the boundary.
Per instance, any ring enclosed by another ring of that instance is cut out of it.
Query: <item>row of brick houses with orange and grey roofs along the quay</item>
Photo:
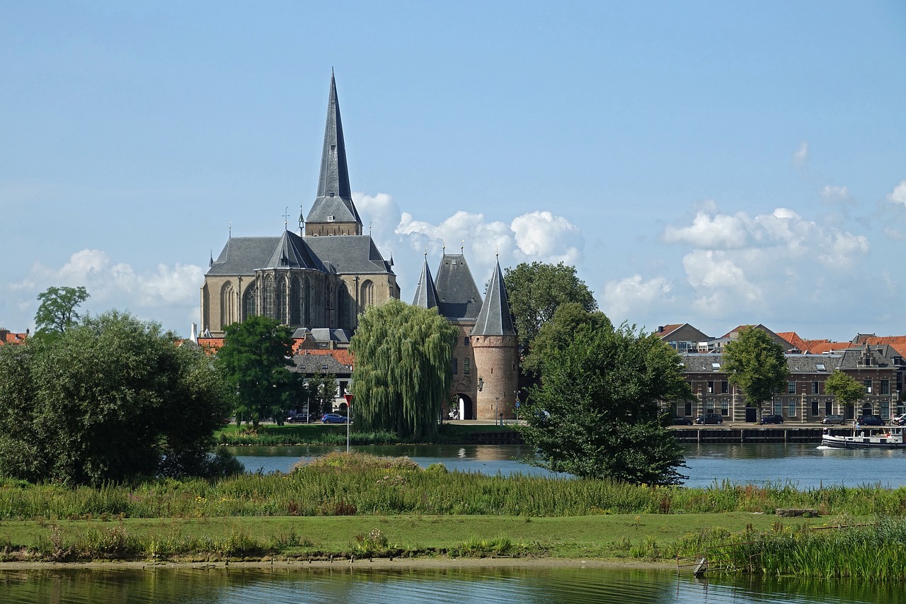
[[[742,393],[729,383],[724,370],[724,348],[741,329],[761,329],[784,347],[789,378],[785,392],[776,393],[761,408],[747,407]],[[806,340],[795,332],[775,333],[766,326],[737,326],[724,336],[709,337],[689,324],[658,327],[660,339],[676,349],[695,401],[678,404],[676,414],[698,417],[721,414],[728,422],[756,422],[761,415],[782,415],[786,422],[820,422],[827,415],[847,419],[856,415],[906,413],[901,399],[906,363],[906,336],[859,334],[850,342]],[[840,404],[824,389],[834,371],[850,375],[864,386],[861,401]]]

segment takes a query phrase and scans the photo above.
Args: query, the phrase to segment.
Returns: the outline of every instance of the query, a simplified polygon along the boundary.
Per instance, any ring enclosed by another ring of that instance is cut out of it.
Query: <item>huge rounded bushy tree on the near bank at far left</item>
[[[97,485],[230,467],[211,455],[229,410],[223,379],[175,340],[111,311],[53,342],[0,348],[0,475]]]

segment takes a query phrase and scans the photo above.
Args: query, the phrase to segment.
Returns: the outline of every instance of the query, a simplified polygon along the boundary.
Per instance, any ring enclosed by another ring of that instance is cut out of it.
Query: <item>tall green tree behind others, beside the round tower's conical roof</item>
[[[523,262],[504,270],[504,282],[520,346],[528,346],[535,339],[561,304],[576,302],[589,312],[598,307],[592,291],[576,277],[575,268],[563,262]]]

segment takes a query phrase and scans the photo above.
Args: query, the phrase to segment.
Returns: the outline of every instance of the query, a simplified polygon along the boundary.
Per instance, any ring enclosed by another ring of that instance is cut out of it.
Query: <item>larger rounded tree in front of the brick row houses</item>
[[[767,332],[743,327],[724,349],[724,371],[730,384],[742,388],[748,406],[757,407],[786,387],[789,368],[784,347]]]

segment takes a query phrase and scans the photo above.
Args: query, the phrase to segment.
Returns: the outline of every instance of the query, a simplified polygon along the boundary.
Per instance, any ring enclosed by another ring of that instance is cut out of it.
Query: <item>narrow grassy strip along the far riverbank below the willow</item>
[[[350,426],[352,444],[422,444],[410,439],[401,439],[390,432],[356,432],[355,424]],[[473,434],[513,430],[511,426],[444,424],[440,434],[431,444],[467,444]],[[249,426],[226,425],[217,431],[217,443],[229,446],[278,446],[293,444],[346,444],[344,424],[260,424],[256,430]]]

